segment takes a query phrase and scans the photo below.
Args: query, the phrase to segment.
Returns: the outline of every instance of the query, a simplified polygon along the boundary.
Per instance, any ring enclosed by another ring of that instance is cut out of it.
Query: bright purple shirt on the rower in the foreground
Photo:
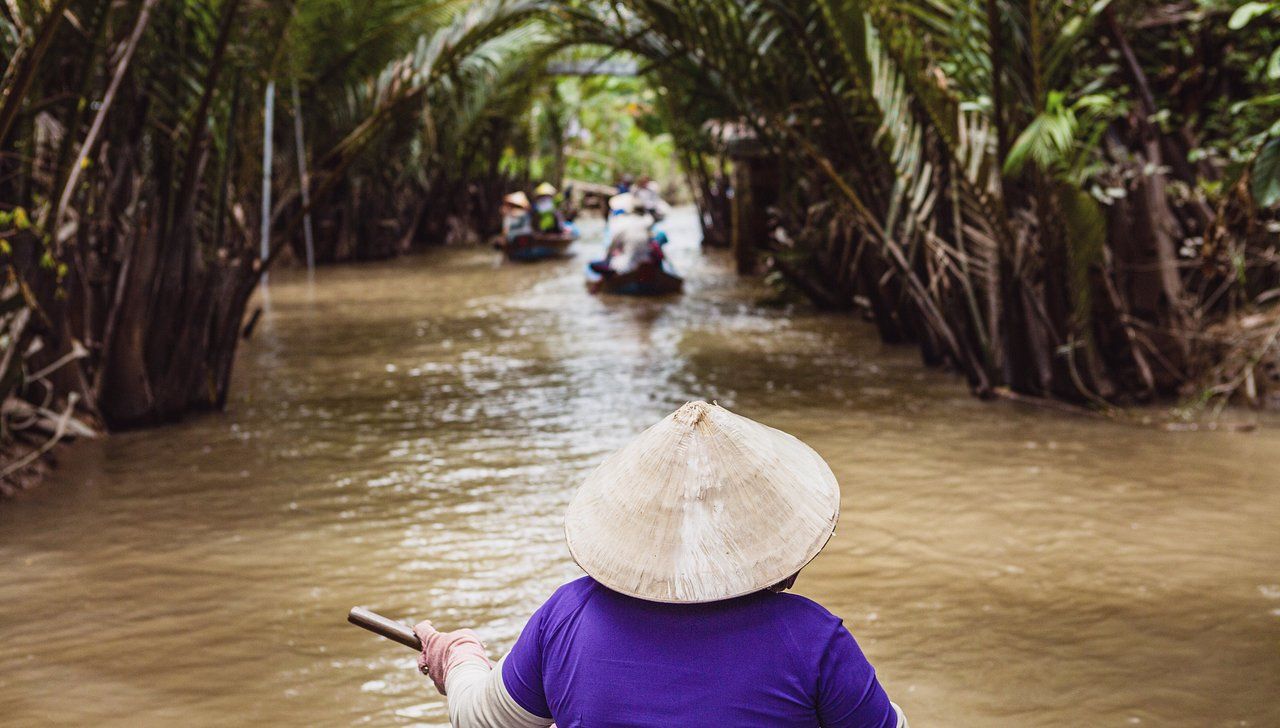
[[[794,594],[658,604],[582,577],[534,613],[502,678],[559,728],[897,724],[840,618]]]

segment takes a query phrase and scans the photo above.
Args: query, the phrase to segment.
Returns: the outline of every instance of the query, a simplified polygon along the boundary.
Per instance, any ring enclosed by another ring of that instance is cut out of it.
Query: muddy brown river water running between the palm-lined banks
[[[0,504],[0,724],[443,725],[347,609],[497,656],[580,573],[575,484],[705,398],[831,462],[840,530],[796,590],[913,728],[1280,725],[1280,426],[982,403],[671,230],[675,301],[588,296],[594,241],[273,274],[225,415],[78,445]]]

